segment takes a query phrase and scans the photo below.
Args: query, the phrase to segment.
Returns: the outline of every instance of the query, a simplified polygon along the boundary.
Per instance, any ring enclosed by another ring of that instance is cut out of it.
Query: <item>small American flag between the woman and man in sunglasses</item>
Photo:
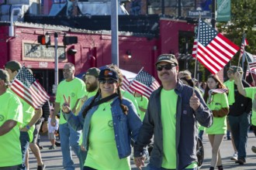
[[[157,88],[160,87],[160,84],[149,73],[141,70],[130,84],[130,87],[134,91],[137,91],[146,97],[150,97],[150,94],[154,90],[157,90]]]

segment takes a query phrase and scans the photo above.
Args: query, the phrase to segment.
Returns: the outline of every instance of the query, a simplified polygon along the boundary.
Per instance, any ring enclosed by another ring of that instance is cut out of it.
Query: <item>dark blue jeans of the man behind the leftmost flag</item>
[[[26,170],[25,160],[26,160],[26,151],[29,148],[29,134],[26,131],[20,131],[19,141],[21,145],[22,151],[22,165],[20,165],[20,169]]]

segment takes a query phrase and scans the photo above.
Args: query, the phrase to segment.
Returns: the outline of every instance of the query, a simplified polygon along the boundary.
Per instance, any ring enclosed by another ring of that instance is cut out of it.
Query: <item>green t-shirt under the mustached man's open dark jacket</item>
[[[176,168],[176,106],[175,90],[161,90],[161,122],[163,126],[163,168]]]

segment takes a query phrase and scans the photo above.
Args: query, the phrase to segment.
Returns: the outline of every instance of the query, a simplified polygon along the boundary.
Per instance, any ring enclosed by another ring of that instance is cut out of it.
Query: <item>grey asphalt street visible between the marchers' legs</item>
[[[223,143],[220,147],[220,155],[223,161],[224,169],[234,169],[234,170],[255,170],[256,169],[256,154],[251,151],[251,147],[253,145],[256,146],[256,138],[253,132],[249,132],[249,139],[247,143],[247,162],[244,165],[237,165],[234,161],[230,160],[230,156],[234,154],[234,150],[231,145],[231,141],[227,141],[227,139],[223,140]],[[41,137],[41,145],[43,145],[43,150],[41,150],[43,162],[47,165],[47,169],[63,169],[62,168],[62,156],[61,156],[61,148],[56,148],[55,150],[49,150],[50,141],[48,141],[47,136]],[[208,170],[210,161],[211,161],[211,146],[209,145],[209,140],[206,134],[203,135],[203,145],[205,149],[205,159],[202,164],[202,170]],[[29,169],[36,169],[36,158],[33,153],[29,151]],[[78,158],[74,155],[74,163],[76,166],[76,170],[78,168]],[[131,161],[132,169],[135,170],[135,165],[133,161]],[[143,168],[146,169],[146,168]]]

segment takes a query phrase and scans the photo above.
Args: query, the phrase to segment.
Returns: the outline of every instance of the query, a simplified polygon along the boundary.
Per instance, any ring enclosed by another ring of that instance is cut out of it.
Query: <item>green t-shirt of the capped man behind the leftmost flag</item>
[[[12,90],[10,90],[13,94],[16,95]],[[23,100],[21,97],[16,95],[16,97],[19,98],[20,102],[22,103],[22,114],[23,114],[23,119],[22,119],[22,125],[21,127],[24,128],[26,127],[27,124],[29,124],[29,121],[31,121],[32,117],[35,115],[35,109],[26,103],[25,100]],[[35,125],[29,128],[28,134],[29,134],[29,142],[33,141],[33,131],[35,130]]]

